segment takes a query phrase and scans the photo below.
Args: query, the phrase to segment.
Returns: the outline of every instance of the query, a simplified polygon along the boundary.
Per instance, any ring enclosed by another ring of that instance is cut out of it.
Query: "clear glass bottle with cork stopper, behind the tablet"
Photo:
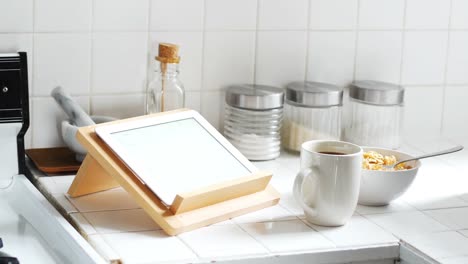
[[[156,77],[148,85],[146,93],[146,114],[164,112],[185,106],[185,90],[179,80],[179,47],[175,44],[160,43],[159,67]]]

